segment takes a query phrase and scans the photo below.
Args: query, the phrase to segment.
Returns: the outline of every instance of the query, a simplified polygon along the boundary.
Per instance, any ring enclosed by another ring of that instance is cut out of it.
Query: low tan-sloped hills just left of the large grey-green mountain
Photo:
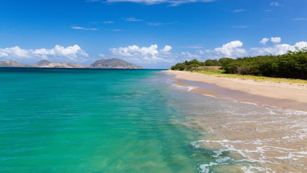
[[[54,63],[48,60],[41,60],[35,64],[31,64],[33,67],[42,67],[42,68],[86,68],[86,65],[82,64],[73,64],[68,62]]]

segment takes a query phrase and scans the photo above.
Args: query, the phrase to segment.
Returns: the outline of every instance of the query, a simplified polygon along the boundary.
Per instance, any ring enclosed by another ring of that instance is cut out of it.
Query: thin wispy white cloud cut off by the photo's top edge
[[[169,3],[169,6],[178,6],[181,4],[192,3],[192,2],[213,2],[216,0],[87,0],[85,2],[104,2],[104,3],[114,3],[114,2],[135,2],[143,3],[146,5]]]

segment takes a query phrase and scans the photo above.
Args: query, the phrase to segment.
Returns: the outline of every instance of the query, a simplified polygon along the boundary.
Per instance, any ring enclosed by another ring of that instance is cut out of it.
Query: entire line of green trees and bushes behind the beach
[[[307,79],[307,47],[288,51],[283,55],[265,55],[243,58],[220,58],[200,62],[185,61],[171,67],[172,70],[201,70],[203,66],[221,66],[218,71],[204,70],[206,73],[239,74],[263,77]]]

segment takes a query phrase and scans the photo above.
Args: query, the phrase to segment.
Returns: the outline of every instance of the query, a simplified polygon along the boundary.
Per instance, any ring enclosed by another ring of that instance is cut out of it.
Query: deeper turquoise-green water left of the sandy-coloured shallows
[[[2,68],[2,171],[197,172],[157,72]]]

